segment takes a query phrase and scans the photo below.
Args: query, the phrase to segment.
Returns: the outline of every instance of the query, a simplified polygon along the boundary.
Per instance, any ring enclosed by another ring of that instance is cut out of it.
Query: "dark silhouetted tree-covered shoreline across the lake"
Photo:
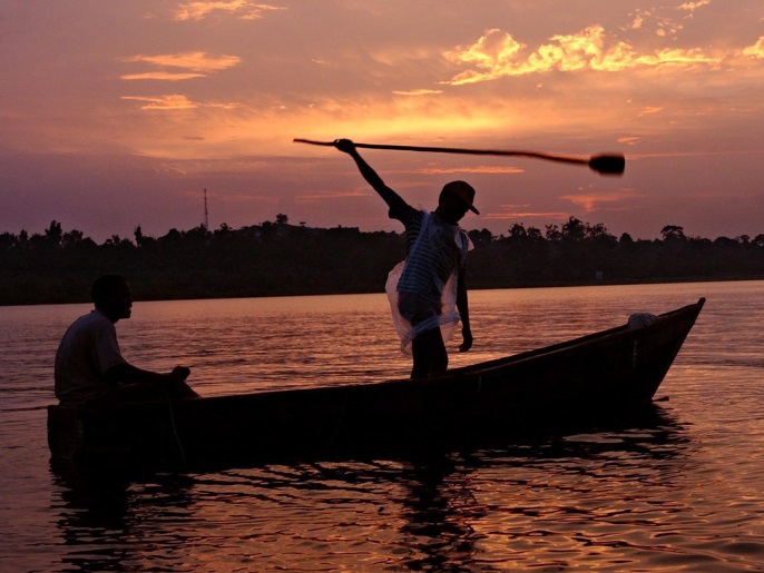
[[[516,223],[507,235],[469,235],[472,289],[764,277],[764,234],[711,240],[668,225],[659,239],[634,240],[570,217],[545,231]],[[136,227],[133,240],[101,245],[53,220],[43,234],[0,234],[0,305],[89,302],[105,273],[127,276],[139,300],[375,293],[403,255],[400,233],[295,226],[283,214],[161,237]]]

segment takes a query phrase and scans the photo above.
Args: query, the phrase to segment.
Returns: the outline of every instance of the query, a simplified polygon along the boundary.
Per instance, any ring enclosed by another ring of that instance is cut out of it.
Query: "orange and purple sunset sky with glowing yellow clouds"
[[[764,1],[3,0],[0,233],[204,223],[393,230],[345,155],[293,138],[626,155],[362,151],[468,229],[764,234]]]

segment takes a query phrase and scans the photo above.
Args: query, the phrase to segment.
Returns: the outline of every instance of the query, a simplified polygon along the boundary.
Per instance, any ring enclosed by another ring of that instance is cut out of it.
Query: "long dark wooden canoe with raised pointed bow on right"
[[[427,379],[48,407],[53,460],[278,461],[463,444],[560,416],[586,422],[652,399],[705,303]]]

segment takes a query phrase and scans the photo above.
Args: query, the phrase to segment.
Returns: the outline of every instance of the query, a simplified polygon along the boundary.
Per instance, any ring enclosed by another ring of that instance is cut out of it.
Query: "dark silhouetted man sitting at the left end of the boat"
[[[56,353],[56,397],[62,406],[107,407],[124,402],[198,397],[187,384],[190,369],[169,374],[129,364],[117,343],[115,324],[129,318],[130,286],[119,275],[99,277],[90,292],[96,308],[67,329]]]

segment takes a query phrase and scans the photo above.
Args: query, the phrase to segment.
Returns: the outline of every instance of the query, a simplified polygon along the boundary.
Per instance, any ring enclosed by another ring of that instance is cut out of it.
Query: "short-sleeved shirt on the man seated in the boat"
[[[80,316],[56,353],[56,397],[61,405],[79,405],[104,396],[106,372],[125,362],[114,324],[98,309]]]

